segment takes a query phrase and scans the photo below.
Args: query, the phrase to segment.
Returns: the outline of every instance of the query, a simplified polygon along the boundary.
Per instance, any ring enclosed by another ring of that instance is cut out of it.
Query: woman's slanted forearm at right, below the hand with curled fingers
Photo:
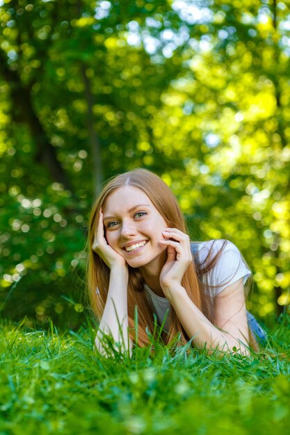
[[[234,337],[226,331],[220,331],[191,301],[186,290],[179,286],[171,292],[170,304],[175,309],[186,334],[189,338],[193,337],[195,345],[199,348],[206,348],[209,352],[220,350],[222,352],[232,352],[236,347],[241,354],[248,354],[247,340],[242,335]],[[243,343],[245,345],[243,345]]]

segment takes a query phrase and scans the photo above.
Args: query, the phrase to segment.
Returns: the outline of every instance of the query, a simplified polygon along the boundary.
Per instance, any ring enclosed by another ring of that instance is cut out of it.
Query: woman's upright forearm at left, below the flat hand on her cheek
[[[102,334],[111,334],[115,343],[121,343],[122,350],[128,345],[128,302],[127,302],[128,270],[113,268],[110,274],[108,295],[95,345],[102,350]]]

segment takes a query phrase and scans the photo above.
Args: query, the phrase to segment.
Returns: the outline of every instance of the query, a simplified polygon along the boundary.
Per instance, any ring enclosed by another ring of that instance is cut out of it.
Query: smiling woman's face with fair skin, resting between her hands
[[[104,202],[105,234],[108,245],[132,268],[152,265],[166,247],[162,232],[167,224],[145,193],[132,186],[114,190]]]

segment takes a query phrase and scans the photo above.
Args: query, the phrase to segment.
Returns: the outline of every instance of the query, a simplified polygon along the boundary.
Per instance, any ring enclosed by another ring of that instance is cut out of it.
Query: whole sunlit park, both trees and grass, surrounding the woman
[[[288,433],[289,23],[277,0],[0,0],[0,435]],[[191,240],[239,247],[258,352],[158,325],[95,352],[90,210],[134,168]]]

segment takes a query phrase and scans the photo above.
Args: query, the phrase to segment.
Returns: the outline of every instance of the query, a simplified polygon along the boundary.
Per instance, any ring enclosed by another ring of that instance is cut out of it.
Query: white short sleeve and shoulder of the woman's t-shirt
[[[223,243],[225,243],[224,246]],[[210,240],[202,245],[199,252],[201,262],[207,258],[209,250],[211,250],[211,257],[213,258],[223,248],[214,267],[202,277],[205,292],[208,295],[216,297],[224,288],[234,284],[241,278],[243,278],[243,284],[245,284],[251,272],[234,243],[229,242],[229,240]]]

